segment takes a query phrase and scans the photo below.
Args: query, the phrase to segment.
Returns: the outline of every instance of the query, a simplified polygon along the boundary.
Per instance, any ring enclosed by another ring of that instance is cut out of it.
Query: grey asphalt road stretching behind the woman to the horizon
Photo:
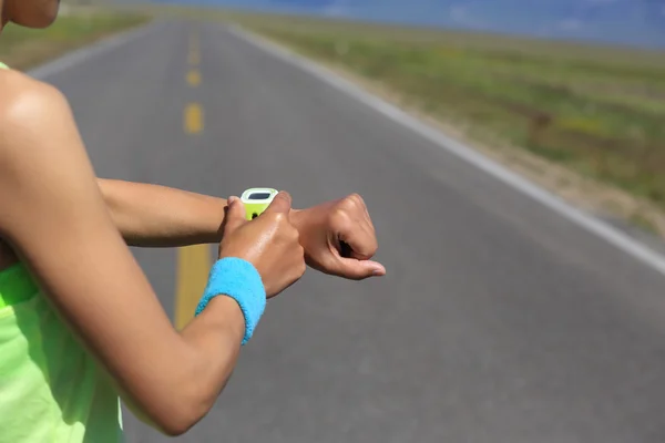
[[[376,223],[388,276],[308,271],[176,441],[665,441],[665,278],[560,214],[217,24],[157,24],[48,81],[101,176],[298,207],[359,192]],[[135,254],[173,315],[175,251]]]

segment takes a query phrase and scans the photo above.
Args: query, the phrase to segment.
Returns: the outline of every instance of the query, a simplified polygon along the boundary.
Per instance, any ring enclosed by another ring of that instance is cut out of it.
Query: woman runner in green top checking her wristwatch
[[[58,0],[0,0],[44,28]],[[1,44],[1,39],[0,39]],[[350,256],[341,256],[339,241]],[[219,243],[197,316],[175,330],[127,245]],[[98,178],[65,97],[0,69],[0,442],[122,441],[120,399],[168,435],[212,408],[266,298],[305,264],[385,275],[358,195],[295,210]]]

